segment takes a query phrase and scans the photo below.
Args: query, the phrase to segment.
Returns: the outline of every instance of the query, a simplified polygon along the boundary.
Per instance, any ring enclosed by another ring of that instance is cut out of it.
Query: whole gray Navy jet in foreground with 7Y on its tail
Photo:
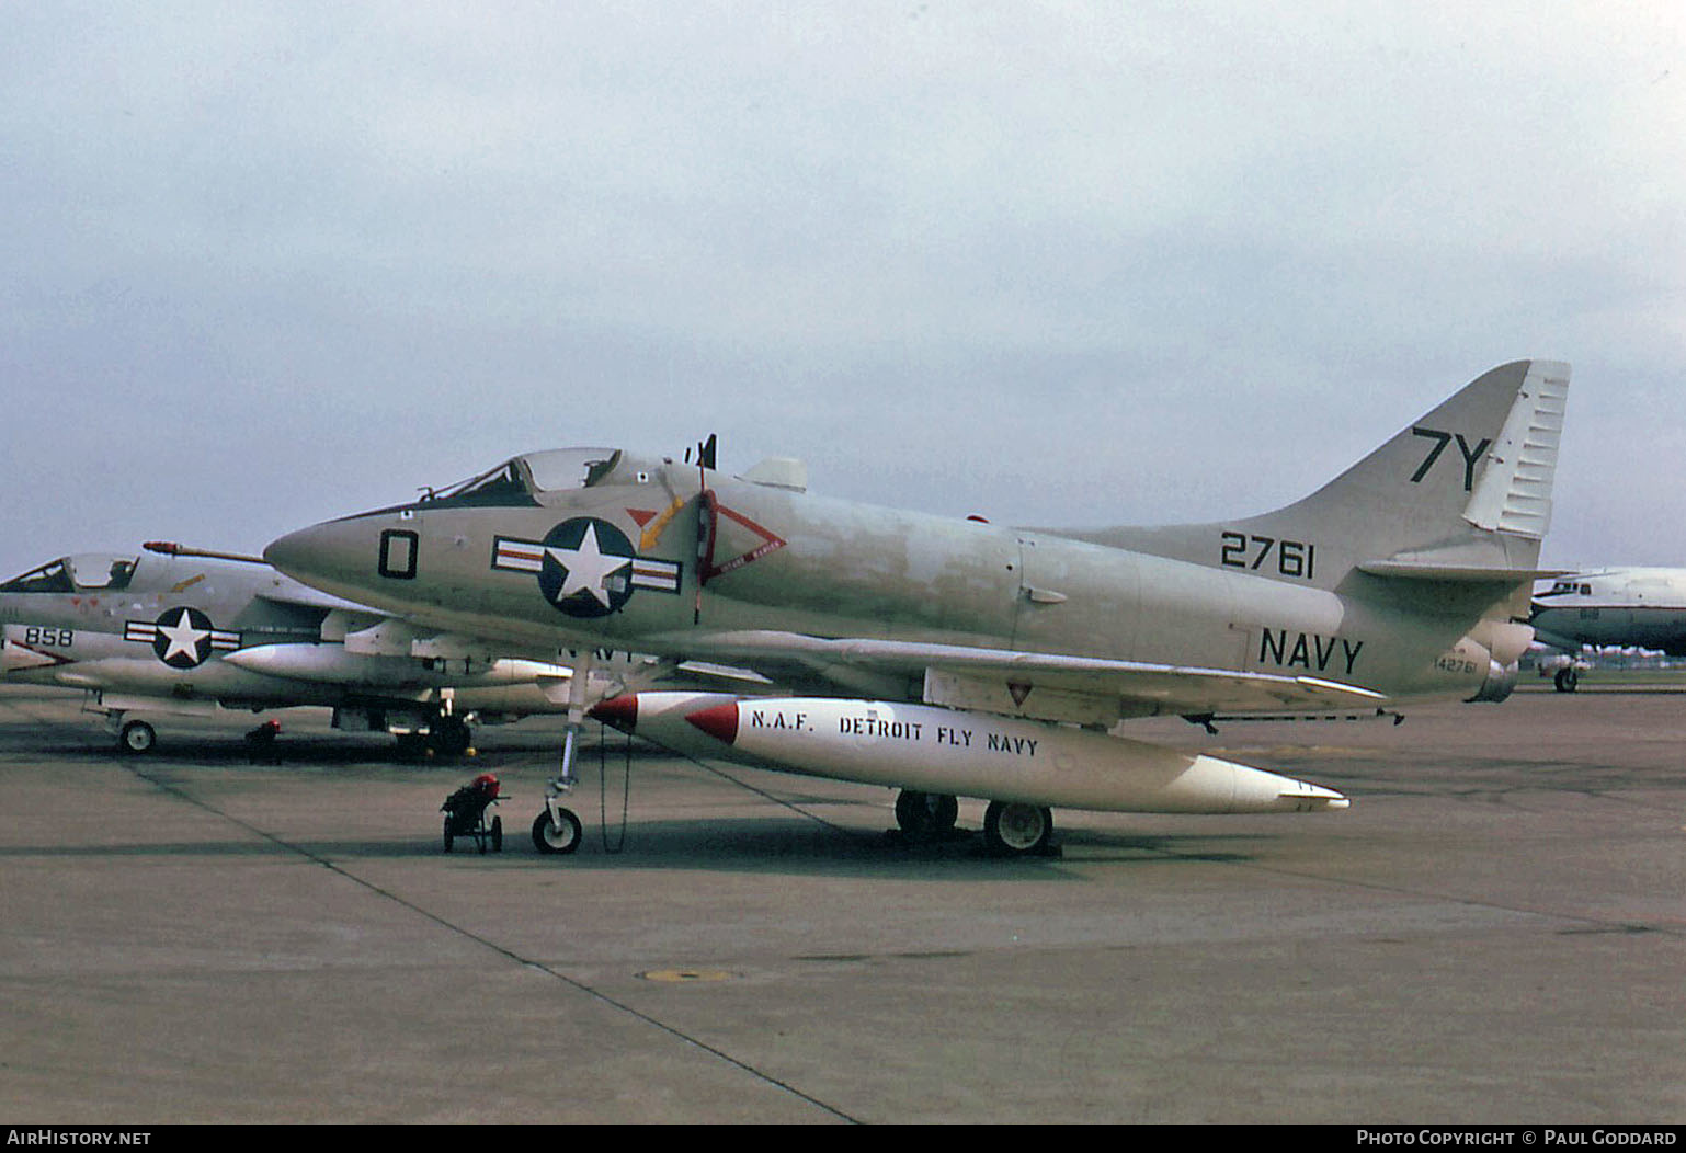
[[[828,499],[794,460],[740,477],[536,452],[270,544],[277,568],[413,622],[588,664],[747,666],[784,696],[647,693],[597,715],[658,740],[902,789],[909,831],[988,801],[996,851],[1050,806],[1344,807],[1334,789],[1106,735],[1120,720],[1501,700],[1526,651],[1568,366],[1495,367],[1312,496],[1207,524],[1015,529]],[[563,784],[572,782],[570,716]],[[551,799],[541,848],[578,821]]]

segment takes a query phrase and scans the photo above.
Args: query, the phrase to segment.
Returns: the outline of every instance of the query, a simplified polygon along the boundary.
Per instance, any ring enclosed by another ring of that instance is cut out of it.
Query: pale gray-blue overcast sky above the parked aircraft
[[[1571,361],[1686,565],[1686,7],[13,3],[0,575],[514,452],[1030,524],[1297,499]]]

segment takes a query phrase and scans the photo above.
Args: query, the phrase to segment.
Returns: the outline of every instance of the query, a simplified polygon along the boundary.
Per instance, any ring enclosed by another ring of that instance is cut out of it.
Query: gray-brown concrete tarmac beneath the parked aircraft
[[[1686,1121],[1686,694],[1135,723],[1352,809],[1057,811],[1032,861],[867,786],[627,796],[617,737],[541,856],[556,718],[433,764],[290,711],[253,765],[250,716],[132,759],[78,708],[0,689],[5,1123]],[[447,856],[482,769],[504,851]]]

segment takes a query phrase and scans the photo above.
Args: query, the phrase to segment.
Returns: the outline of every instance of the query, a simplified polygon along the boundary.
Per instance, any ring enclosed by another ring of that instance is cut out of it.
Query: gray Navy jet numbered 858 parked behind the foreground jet
[[[145,716],[298,705],[460,753],[474,720],[561,711],[572,676],[408,629],[256,558],[175,544],[40,565],[0,583],[0,624],[5,681],[83,689],[132,753],[157,740]]]

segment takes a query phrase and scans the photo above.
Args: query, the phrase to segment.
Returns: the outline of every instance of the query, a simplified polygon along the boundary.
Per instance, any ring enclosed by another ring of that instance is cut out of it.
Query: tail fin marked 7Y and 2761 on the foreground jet
[[[1275,512],[1084,539],[1320,588],[1376,576],[1516,583],[1551,519],[1570,366],[1502,364]]]

